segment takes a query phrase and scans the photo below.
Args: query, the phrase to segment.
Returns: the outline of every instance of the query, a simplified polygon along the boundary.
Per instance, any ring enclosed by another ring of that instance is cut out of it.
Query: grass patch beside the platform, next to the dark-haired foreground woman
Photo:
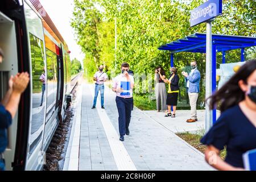
[[[185,133],[177,133],[176,135],[182,138],[183,140],[185,140],[186,142],[188,142],[189,144],[191,144],[191,146],[195,147],[197,150],[199,150],[202,153],[204,153],[205,149],[207,148],[207,146],[200,143],[200,139],[203,137],[202,134],[191,134],[191,133],[185,132]],[[226,156],[226,148],[224,148],[224,150],[220,152],[220,157],[222,159],[225,159],[225,156]]]

